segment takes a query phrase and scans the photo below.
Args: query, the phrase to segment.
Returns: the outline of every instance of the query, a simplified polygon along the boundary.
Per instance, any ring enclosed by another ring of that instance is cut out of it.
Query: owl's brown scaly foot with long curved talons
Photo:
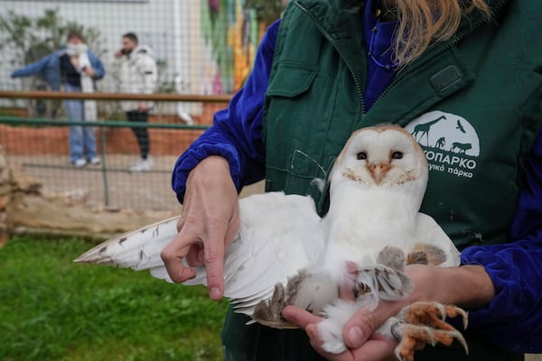
[[[450,346],[454,340],[461,343],[467,355],[469,348],[461,332],[445,322],[446,318],[461,316],[463,327],[467,327],[467,312],[451,305],[437,302],[416,302],[406,306],[391,326],[391,334],[400,340],[395,353],[397,359],[413,361],[414,352],[426,344],[441,343]]]

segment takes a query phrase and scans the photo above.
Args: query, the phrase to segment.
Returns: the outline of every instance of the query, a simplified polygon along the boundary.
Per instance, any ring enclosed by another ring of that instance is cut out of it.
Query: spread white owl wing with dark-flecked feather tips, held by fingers
[[[287,282],[322,253],[323,232],[308,196],[255,194],[239,200],[239,218],[238,234],[224,255],[224,295],[238,311],[251,314],[258,301],[271,296],[276,283]],[[109,239],[75,262],[148,269],[172,282],[160,253],[177,235],[178,220],[165,219]],[[205,268],[195,269],[196,277],[184,284],[206,284]]]

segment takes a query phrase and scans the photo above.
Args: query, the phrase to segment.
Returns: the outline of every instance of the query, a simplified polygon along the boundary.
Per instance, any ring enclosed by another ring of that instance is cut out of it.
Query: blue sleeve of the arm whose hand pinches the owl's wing
[[[231,98],[228,108],[214,115],[213,125],[175,163],[172,186],[180,202],[184,199],[188,173],[210,155],[228,160],[238,190],[264,178],[263,108],[279,23],[276,21],[267,29],[245,86]]]

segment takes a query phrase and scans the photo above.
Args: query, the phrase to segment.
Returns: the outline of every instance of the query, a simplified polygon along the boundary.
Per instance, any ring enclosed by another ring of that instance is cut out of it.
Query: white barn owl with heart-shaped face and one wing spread
[[[283,192],[239,200],[240,227],[224,256],[224,294],[253,321],[289,328],[280,310],[293,304],[322,316],[323,349],[346,350],[342,329],[360,308],[399,300],[413,290],[406,264],[455,266],[459,252],[433,218],[420,213],[428,179],[425,154],[403,128],[379,125],[350,136],[330,172],[330,208],[323,218],[309,196]],[[160,252],[177,234],[178,218],[112,238],[76,262],[149,269],[171,282]],[[183,261],[184,262],[184,261]],[[206,284],[204,267],[184,284]],[[339,298],[351,287],[354,301]],[[445,322],[466,312],[415,303],[377,332],[397,339],[396,356],[412,360],[425,343],[449,345],[462,334]]]

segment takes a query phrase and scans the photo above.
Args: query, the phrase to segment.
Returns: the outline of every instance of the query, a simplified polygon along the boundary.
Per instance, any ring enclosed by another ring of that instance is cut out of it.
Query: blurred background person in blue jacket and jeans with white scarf
[[[79,32],[69,32],[66,45],[60,50],[16,69],[12,78],[39,75],[53,90],[92,93],[95,81],[102,79],[105,69],[98,56],[89,50]],[[98,111],[94,100],[65,100],[64,108],[70,120],[96,121]],[[94,127],[70,126],[70,162],[77,168],[87,162],[99,164]]]

